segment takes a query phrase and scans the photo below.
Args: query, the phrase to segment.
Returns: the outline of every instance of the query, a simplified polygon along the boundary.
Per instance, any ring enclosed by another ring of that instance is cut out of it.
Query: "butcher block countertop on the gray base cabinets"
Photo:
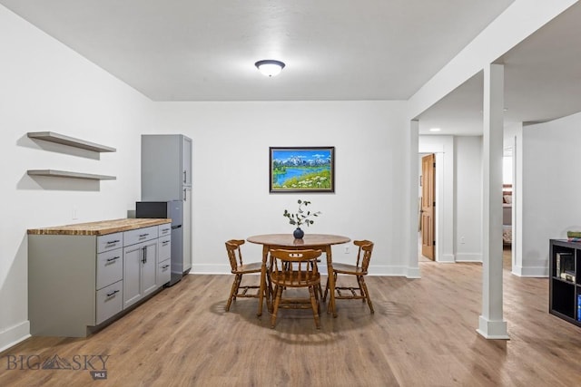
[[[44,228],[30,228],[28,235],[106,235],[115,232],[133,230],[135,228],[150,227],[171,223],[172,219],[165,218],[126,218],[101,220],[98,222],[77,223]]]

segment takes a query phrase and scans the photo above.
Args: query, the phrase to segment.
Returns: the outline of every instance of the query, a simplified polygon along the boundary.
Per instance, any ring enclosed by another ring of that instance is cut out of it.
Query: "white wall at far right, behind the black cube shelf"
[[[581,113],[523,128],[522,276],[548,275],[548,240],[581,230]]]

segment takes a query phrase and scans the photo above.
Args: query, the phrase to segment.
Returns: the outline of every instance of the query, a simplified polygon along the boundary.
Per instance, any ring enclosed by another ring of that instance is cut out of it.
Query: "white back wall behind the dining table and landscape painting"
[[[224,242],[291,233],[298,198],[322,214],[306,233],[376,243],[372,274],[402,275],[402,102],[160,102],[153,131],[193,139],[193,273],[227,273]],[[334,194],[270,194],[269,147],[334,146]],[[246,244],[246,259],[261,247]],[[333,259],[353,258],[334,247]]]

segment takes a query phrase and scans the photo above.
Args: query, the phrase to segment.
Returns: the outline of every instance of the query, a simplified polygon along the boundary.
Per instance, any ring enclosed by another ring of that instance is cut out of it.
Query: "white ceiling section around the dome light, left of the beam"
[[[0,4],[153,101],[313,101],[409,99],[513,1]]]

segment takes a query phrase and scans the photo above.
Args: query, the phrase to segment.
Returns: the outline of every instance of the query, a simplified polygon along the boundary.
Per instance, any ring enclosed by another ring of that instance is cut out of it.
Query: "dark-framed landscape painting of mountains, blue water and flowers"
[[[270,189],[335,192],[335,147],[270,148]]]

